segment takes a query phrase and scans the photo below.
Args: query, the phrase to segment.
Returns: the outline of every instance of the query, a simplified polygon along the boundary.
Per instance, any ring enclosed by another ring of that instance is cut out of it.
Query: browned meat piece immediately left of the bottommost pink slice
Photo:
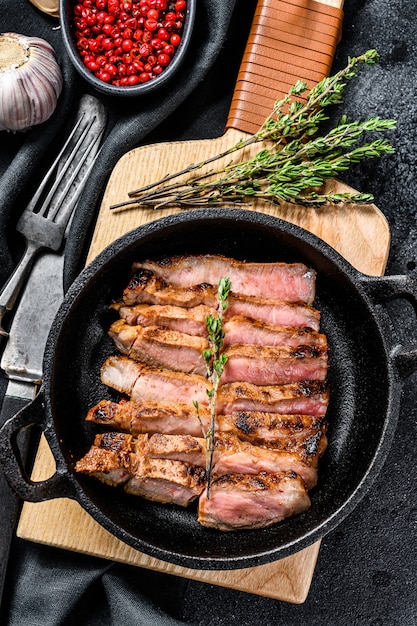
[[[138,455],[124,489],[147,500],[187,507],[201,495],[205,484],[206,473],[201,467]]]

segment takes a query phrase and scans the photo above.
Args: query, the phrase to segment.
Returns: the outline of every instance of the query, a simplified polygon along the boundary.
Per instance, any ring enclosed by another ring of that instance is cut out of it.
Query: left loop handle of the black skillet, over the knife
[[[8,419],[0,429],[0,463],[10,487],[22,500],[29,502],[74,497],[74,487],[70,481],[68,470],[57,459],[55,459],[55,474],[50,478],[34,482],[27,475],[20,455],[17,436],[20,431],[29,426],[40,426],[48,439],[42,391],[30,404]]]

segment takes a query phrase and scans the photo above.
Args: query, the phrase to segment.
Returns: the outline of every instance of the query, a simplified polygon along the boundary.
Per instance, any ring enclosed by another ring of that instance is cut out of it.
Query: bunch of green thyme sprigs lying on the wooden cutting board
[[[349,57],[345,68],[324,78],[309,92],[304,81],[297,81],[283,99],[275,102],[270,115],[254,135],[241,139],[221,154],[131,191],[131,200],[110,208],[136,205],[187,209],[245,204],[253,199],[276,205],[290,202],[313,207],[326,203],[372,202],[373,196],[368,193],[335,193],[324,191],[323,186],[352,164],[392,154],[394,148],[388,141],[365,142],[363,138],[367,133],[394,129],[396,121],[378,116],[349,121],[342,115],[334,128],[323,135],[318,133],[329,119],[327,107],[343,102],[347,81],[357,76],[359,66],[374,65],[378,60],[376,50]],[[266,147],[244,158],[241,151],[258,143]],[[233,160],[239,151],[242,158]],[[207,170],[207,166],[228,157],[232,160],[227,165]]]

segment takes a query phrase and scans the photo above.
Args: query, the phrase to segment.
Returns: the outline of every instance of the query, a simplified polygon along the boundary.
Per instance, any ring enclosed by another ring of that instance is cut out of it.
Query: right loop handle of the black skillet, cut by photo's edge
[[[403,298],[417,315],[417,280],[412,276],[362,276],[361,283],[375,304],[386,304]],[[417,371],[417,344],[395,345],[390,358],[401,378]]]

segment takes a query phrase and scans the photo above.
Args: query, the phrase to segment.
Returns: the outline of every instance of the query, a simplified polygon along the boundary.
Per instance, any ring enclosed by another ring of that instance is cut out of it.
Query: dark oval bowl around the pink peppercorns
[[[176,48],[175,54],[173,55],[169,65],[164,68],[161,74],[152,78],[148,82],[132,86],[116,86],[111,83],[104,82],[86,68],[74,43],[74,23],[71,11],[74,4],[76,4],[76,0],[59,0],[62,39],[65,50],[67,51],[75,69],[87,83],[94,87],[94,89],[97,89],[98,91],[101,91],[109,96],[144,96],[151,94],[166,85],[181,68],[193,33],[197,0],[187,0],[187,9],[181,34],[181,43]]]

